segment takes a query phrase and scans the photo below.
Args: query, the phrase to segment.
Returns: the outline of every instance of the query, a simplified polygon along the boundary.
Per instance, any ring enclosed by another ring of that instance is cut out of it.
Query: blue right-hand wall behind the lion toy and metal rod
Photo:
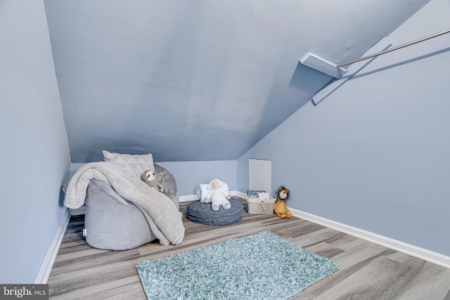
[[[432,0],[389,39],[449,27]],[[432,20],[432,22],[430,21]],[[273,160],[290,207],[450,255],[450,34],[380,56],[314,107],[305,105],[238,159]]]

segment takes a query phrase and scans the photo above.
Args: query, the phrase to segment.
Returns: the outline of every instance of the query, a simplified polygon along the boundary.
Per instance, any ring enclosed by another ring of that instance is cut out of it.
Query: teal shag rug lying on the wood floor
[[[271,231],[136,266],[148,299],[288,299],[339,270]]]

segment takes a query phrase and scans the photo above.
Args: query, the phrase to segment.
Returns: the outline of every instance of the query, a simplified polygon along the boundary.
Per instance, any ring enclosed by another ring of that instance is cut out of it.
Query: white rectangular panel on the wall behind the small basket
[[[268,159],[248,159],[248,189],[265,190],[272,195],[272,161]]]

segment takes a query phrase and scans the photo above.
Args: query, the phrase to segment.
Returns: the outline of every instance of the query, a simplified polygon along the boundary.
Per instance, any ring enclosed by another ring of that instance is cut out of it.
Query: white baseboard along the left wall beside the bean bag
[[[70,220],[70,213],[69,209],[67,209],[63,217],[63,222],[61,222],[61,225],[59,226],[58,232],[56,233],[56,236],[53,239],[49,252],[47,252],[44,262],[42,263],[41,270],[39,270],[37,278],[36,280],[34,280],[35,285],[46,284],[47,281],[49,281],[51,268],[53,267],[53,263],[55,262],[56,259],[56,254],[58,254],[59,247],[61,245],[61,242],[63,241],[65,230],[66,228],[68,228],[69,220]]]

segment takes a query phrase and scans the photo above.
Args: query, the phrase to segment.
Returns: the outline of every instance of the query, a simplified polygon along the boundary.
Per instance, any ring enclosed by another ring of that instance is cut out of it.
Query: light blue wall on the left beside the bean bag
[[[42,1],[0,2],[0,282],[33,283],[66,209],[70,167]]]

